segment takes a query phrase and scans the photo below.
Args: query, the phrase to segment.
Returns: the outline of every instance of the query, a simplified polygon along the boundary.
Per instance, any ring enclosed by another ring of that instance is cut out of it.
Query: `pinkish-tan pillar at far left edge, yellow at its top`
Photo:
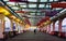
[[[0,14],[0,39],[3,39],[4,32],[4,15]]]

